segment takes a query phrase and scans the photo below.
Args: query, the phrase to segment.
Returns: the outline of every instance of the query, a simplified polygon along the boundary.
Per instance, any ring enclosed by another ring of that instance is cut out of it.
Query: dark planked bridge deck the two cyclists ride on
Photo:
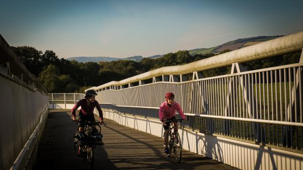
[[[78,114],[77,114],[78,115]],[[73,152],[77,124],[70,110],[51,110],[39,145],[37,169],[85,169]],[[182,161],[164,153],[163,139],[105,119],[104,146],[95,149],[94,169],[236,169],[183,150]]]

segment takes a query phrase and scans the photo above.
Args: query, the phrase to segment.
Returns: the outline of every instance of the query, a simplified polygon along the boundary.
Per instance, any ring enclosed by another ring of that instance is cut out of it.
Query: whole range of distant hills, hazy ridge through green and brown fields
[[[235,39],[232,41],[228,41],[227,43],[224,43],[224,44],[216,46],[216,47],[193,49],[193,50],[189,50],[188,52],[190,55],[196,55],[196,54],[204,55],[204,54],[208,54],[208,53],[219,54],[220,52],[227,50],[227,49],[229,49],[231,51],[237,50],[237,49],[241,49],[244,47],[248,47],[251,45],[261,43],[263,41],[278,38],[281,36],[283,36],[283,35],[255,36],[255,37],[249,37],[249,38],[239,38],[239,39]],[[162,56],[163,55],[154,55],[154,56],[150,56],[147,58],[156,59],[156,58],[160,58]],[[117,61],[117,60],[132,60],[132,61],[139,62],[142,59],[143,59],[142,56],[133,56],[133,57],[127,57],[127,58],[113,58],[113,57],[70,57],[70,58],[67,58],[67,60],[76,60],[78,62],[99,62],[99,61],[110,62],[110,61]]]

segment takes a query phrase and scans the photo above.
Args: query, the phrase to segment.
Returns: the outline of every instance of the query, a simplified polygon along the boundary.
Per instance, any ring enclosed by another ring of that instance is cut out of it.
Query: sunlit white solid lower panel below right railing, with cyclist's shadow
[[[104,117],[119,124],[158,137],[163,136],[162,123],[103,110]],[[183,149],[207,156],[240,169],[303,169],[303,154],[269,148],[231,139],[179,130]]]

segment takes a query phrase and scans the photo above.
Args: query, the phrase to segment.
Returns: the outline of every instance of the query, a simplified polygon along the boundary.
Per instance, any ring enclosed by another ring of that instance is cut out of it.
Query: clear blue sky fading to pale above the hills
[[[303,31],[303,1],[0,0],[10,46],[59,58],[149,57]]]

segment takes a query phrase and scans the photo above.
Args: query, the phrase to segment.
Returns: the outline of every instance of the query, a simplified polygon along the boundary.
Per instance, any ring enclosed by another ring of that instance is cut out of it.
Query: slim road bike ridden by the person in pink
[[[167,120],[165,123],[169,124],[169,130],[170,130],[170,140],[169,140],[169,153],[167,153],[167,157],[170,157],[172,153],[175,154],[175,158],[177,162],[181,161],[182,158],[182,144],[181,144],[181,138],[178,133],[178,131],[172,132],[172,130],[175,128],[175,123],[184,121],[182,119],[175,119],[175,120]],[[171,127],[171,124],[174,123],[173,127]],[[172,152],[173,151],[173,152]]]

